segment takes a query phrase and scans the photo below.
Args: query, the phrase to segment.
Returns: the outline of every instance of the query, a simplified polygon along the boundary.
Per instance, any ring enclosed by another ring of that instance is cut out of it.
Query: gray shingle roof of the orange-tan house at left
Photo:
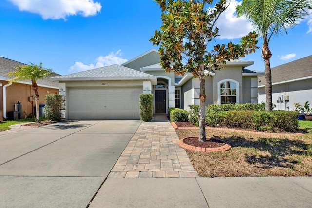
[[[9,58],[5,58],[5,57],[0,57],[0,79],[4,80],[4,81],[9,81],[11,79],[11,77],[8,77],[9,72],[14,72],[13,67],[16,66],[24,66],[27,64],[18,62],[18,61],[14,61],[11,60]],[[58,74],[57,74],[58,75]],[[26,80],[25,80],[26,81]],[[26,82],[29,82],[31,84],[31,81],[28,80]],[[50,86],[50,87],[58,87],[58,83],[54,82],[54,81],[50,81],[47,78],[45,79],[39,79],[37,81],[37,84],[40,86],[44,85],[44,86]]]

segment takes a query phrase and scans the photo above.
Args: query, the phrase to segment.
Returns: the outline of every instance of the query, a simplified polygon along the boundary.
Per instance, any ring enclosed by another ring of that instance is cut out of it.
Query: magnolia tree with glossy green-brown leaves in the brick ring
[[[229,6],[226,0],[155,0],[162,10],[162,26],[150,39],[159,45],[160,65],[167,72],[199,78],[199,141],[206,141],[205,78],[212,69],[222,68],[227,61],[255,52],[257,34],[250,32],[240,44],[216,44],[218,18]],[[213,3],[215,3],[213,5]],[[210,47],[210,49],[209,49]]]

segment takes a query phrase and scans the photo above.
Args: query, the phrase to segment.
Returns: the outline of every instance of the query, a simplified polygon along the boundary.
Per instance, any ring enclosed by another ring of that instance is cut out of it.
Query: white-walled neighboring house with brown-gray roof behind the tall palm
[[[309,101],[312,107],[312,55],[271,69],[275,110],[294,110]],[[258,78],[259,102],[265,102],[265,77]]]

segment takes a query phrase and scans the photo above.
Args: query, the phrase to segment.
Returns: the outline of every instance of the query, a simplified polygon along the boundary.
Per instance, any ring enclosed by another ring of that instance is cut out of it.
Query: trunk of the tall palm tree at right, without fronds
[[[265,111],[272,110],[272,80],[271,80],[271,68],[270,58],[272,54],[269,50],[269,45],[266,41],[263,41],[262,46],[262,58],[264,59],[264,73],[265,73]]]

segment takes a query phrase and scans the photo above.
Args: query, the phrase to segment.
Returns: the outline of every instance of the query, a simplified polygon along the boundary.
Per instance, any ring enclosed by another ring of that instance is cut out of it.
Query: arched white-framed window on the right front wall
[[[218,82],[218,104],[239,103],[239,83],[233,79]]]

